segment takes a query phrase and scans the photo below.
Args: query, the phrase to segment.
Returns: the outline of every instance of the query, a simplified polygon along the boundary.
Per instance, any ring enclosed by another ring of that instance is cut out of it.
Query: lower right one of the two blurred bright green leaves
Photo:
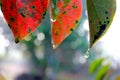
[[[110,64],[102,66],[99,70],[98,73],[96,74],[96,79],[95,80],[103,80],[105,74],[107,73],[108,69],[110,67]]]

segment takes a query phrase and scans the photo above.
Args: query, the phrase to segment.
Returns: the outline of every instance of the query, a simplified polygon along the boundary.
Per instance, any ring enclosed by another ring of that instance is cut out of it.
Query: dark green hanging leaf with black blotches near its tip
[[[110,27],[116,11],[116,0],[87,0],[87,10],[92,47]]]

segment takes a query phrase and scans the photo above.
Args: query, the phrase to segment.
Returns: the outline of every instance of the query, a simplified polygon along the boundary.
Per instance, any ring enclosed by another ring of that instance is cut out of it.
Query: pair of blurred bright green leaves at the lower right
[[[95,80],[104,80],[105,76],[108,74],[108,71],[110,70],[110,63],[107,62],[104,64],[105,61],[105,58],[99,58],[90,64],[89,72],[90,74],[95,74]]]

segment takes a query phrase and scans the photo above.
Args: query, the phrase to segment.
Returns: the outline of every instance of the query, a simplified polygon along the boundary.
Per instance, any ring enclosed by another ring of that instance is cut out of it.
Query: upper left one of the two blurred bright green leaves
[[[100,58],[100,59],[97,59],[97,60],[95,60],[91,65],[90,65],[90,67],[89,67],[89,72],[91,73],[91,74],[93,74],[96,70],[97,70],[97,68],[101,65],[101,63],[103,62],[103,58]]]

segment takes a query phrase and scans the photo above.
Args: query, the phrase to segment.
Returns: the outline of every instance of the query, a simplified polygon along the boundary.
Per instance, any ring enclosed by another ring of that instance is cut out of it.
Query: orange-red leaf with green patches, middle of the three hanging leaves
[[[52,43],[56,48],[78,25],[82,15],[82,0],[59,0],[50,2]]]

